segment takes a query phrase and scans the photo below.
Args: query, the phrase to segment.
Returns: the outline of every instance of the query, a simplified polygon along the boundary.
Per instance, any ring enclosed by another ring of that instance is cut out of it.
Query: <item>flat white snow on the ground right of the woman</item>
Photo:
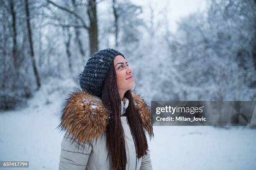
[[[256,130],[154,126],[149,147],[156,170],[256,170]]]

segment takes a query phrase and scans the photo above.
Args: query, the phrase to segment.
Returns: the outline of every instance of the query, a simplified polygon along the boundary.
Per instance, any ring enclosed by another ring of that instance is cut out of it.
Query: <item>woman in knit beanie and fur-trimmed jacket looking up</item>
[[[81,90],[65,102],[59,170],[152,170],[146,133],[154,137],[146,102],[134,94],[133,70],[122,53],[92,55],[79,74]]]

